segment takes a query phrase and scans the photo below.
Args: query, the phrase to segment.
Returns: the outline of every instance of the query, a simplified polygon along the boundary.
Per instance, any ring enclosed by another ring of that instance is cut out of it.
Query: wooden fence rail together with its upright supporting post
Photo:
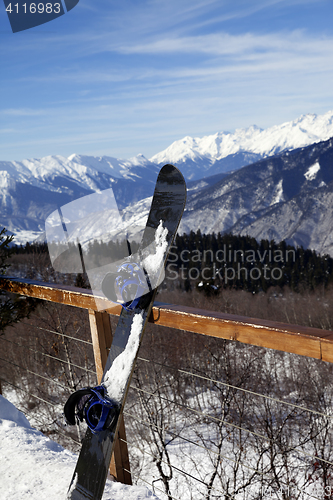
[[[87,309],[96,373],[100,381],[112,342],[109,315],[119,315],[121,306],[103,297],[93,296],[90,290],[32,280],[23,281],[7,276],[0,277],[0,288],[28,297]],[[162,303],[154,304],[149,321],[178,330],[333,362],[333,332],[327,330]],[[131,484],[123,421],[110,470],[118,481]]]

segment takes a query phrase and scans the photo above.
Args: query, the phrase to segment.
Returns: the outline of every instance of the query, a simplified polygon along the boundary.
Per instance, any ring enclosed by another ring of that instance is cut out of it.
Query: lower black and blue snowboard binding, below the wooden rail
[[[68,398],[64,414],[70,425],[75,425],[77,420],[85,420],[95,434],[101,430],[112,429],[118,419],[119,406],[106,396],[103,385],[84,387]]]

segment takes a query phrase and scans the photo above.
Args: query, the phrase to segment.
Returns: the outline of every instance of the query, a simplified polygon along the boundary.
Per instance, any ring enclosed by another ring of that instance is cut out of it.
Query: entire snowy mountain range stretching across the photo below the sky
[[[330,137],[333,111],[266,130],[185,137],[150,160],[72,155],[0,162],[0,225],[16,242],[32,241],[57,207],[109,187],[125,219],[144,223],[158,171],[173,163],[189,189],[180,231],[286,239],[333,255]]]

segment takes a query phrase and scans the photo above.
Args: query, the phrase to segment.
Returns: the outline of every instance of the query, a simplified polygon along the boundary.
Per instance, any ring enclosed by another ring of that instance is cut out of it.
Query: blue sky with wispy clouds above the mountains
[[[13,34],[0,160],[146,157],[186,135],[333,109],[332,0],[80,0]]]

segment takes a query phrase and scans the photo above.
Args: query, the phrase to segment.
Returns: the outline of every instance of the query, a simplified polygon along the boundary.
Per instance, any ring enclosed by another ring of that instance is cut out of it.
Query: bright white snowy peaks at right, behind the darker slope
[[[186,179],[197,180],[230,172],[267,156],[325,141],[333,137],[333,111],[307,114],[265,130],[253,125],[233,133],[202,138],[184,137],[150,158],[158,165],[172,163]]]

